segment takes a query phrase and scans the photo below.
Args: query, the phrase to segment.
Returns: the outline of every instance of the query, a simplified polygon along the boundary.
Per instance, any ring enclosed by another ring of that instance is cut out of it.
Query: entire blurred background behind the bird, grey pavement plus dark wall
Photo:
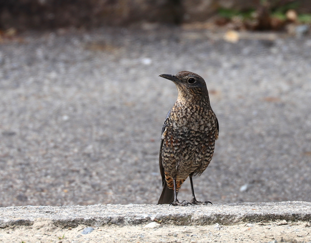
[[[310,24],[307,0],[1,1],[0,207],[157,203],[183,70],[220,124],[197,199],[310,201]]]

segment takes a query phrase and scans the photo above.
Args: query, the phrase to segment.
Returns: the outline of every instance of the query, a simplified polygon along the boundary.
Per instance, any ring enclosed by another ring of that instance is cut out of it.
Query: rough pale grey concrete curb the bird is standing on
[[[0,228],[32,225],[49,219],[58,227],[79,224],[137,225],[153,220],[177,225],[223,225],[238,222],[309,221],[311,203],[300,201],[270,203],[234,203],[177,207],[154,204],[88,205],[88,206],[17,206],[0,208]]]

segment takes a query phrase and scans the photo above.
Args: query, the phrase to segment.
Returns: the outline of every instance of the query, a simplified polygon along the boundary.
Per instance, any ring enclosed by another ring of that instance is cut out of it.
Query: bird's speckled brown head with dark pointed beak
[[[191,101],[208,99],[208,91],[204,79],[193,72],[181,71],[176,75],[160,74],[159,76],[175,83],[178,90],[178,99]]]

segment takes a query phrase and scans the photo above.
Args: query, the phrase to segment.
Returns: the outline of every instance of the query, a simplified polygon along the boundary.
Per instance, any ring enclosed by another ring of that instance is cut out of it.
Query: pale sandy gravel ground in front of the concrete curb
[[[49,220],[32,226],[0,229],[2,243],[98,243],[98,242],[152,242],[152,243],[310,243],[311,228],[308,222],[259,222],[235,225],[180,226],[160,224],[159,228],[144,225],[100,226],[84,234],[86,225],[60,228]]]

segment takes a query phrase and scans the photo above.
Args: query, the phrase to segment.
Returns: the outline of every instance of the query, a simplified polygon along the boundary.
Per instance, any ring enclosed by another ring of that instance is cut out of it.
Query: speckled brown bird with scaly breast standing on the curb
[[[158,204],[211,204],[197,201],[192,181],[211,162],[219,135],[219,123],[210,105],[206,83],[189,71],[159,76],[174,82],[178,97],[162,128],[159,164],[163,189]],[[178,191],[188,177],[192,199],[179,202]]]

